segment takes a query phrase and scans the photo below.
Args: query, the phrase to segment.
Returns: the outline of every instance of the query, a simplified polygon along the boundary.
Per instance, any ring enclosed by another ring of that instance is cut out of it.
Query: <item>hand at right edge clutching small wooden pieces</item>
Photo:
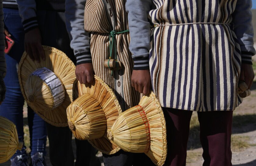
[[[248,89],[250,89],[253,83],[253,79],[254,71],[252,65],[242,63],[239,81],[244,81],[248,86]]]

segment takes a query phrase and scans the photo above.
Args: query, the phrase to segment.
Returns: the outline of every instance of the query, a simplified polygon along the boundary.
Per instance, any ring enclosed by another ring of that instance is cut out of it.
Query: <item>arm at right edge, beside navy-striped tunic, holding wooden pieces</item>
[[[252,55],[255,55],[251,7],[251,0],[238,0],[236,9],[232,13],[233,30],[241,48],[242,64],[240,81],[244,81],[249,89],[251,88],[254,79],[251,58]]]

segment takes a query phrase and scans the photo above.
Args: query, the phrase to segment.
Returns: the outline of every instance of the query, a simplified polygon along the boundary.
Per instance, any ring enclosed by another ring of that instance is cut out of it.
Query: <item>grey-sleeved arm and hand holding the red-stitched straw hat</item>
[[[130,51],[133,54],[133,73],[131,84],[135,90],[148,94],[151,85],[149,72],[150,23],[148,12],[152,0],[127,0],[126,11],[130,30]]]

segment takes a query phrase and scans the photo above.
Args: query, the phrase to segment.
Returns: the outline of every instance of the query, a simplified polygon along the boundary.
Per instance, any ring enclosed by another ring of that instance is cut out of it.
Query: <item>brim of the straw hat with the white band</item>
[[[66,108],[72,102],[73,98],[73,83],[76,79],[76,66],[64,52],[48,46],[43,46],[43,49],[45,53],[45,61],[41,59],[40,63],[33,62],[26,52],[23,53],[18,68],[21,92],[27,104],[44,121],[57,127],[66,127],[68,126]],[[61,80],[65,90],[65,99],[63,103],[59,107],[49,111],[42,111],[39,107],[35,107],[34,104],[31,104],[28,100],[28,97],[25,94],[24,89],[26,81],[30,74],[34,72],[36,69],[42,67],[46,67],[53,71],[56,74],[56,76],[58,76],[58,78]]]

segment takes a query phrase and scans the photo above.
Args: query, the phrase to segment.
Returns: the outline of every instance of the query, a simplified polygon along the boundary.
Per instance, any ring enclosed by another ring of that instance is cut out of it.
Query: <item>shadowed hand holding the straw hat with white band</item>
[[[38,28],[32,29],[25,34],[25,51],[29,57],[38,63],[40,62],[40,57],[45,60],[44,50],[41,45],[42,38],[40,30]]]

